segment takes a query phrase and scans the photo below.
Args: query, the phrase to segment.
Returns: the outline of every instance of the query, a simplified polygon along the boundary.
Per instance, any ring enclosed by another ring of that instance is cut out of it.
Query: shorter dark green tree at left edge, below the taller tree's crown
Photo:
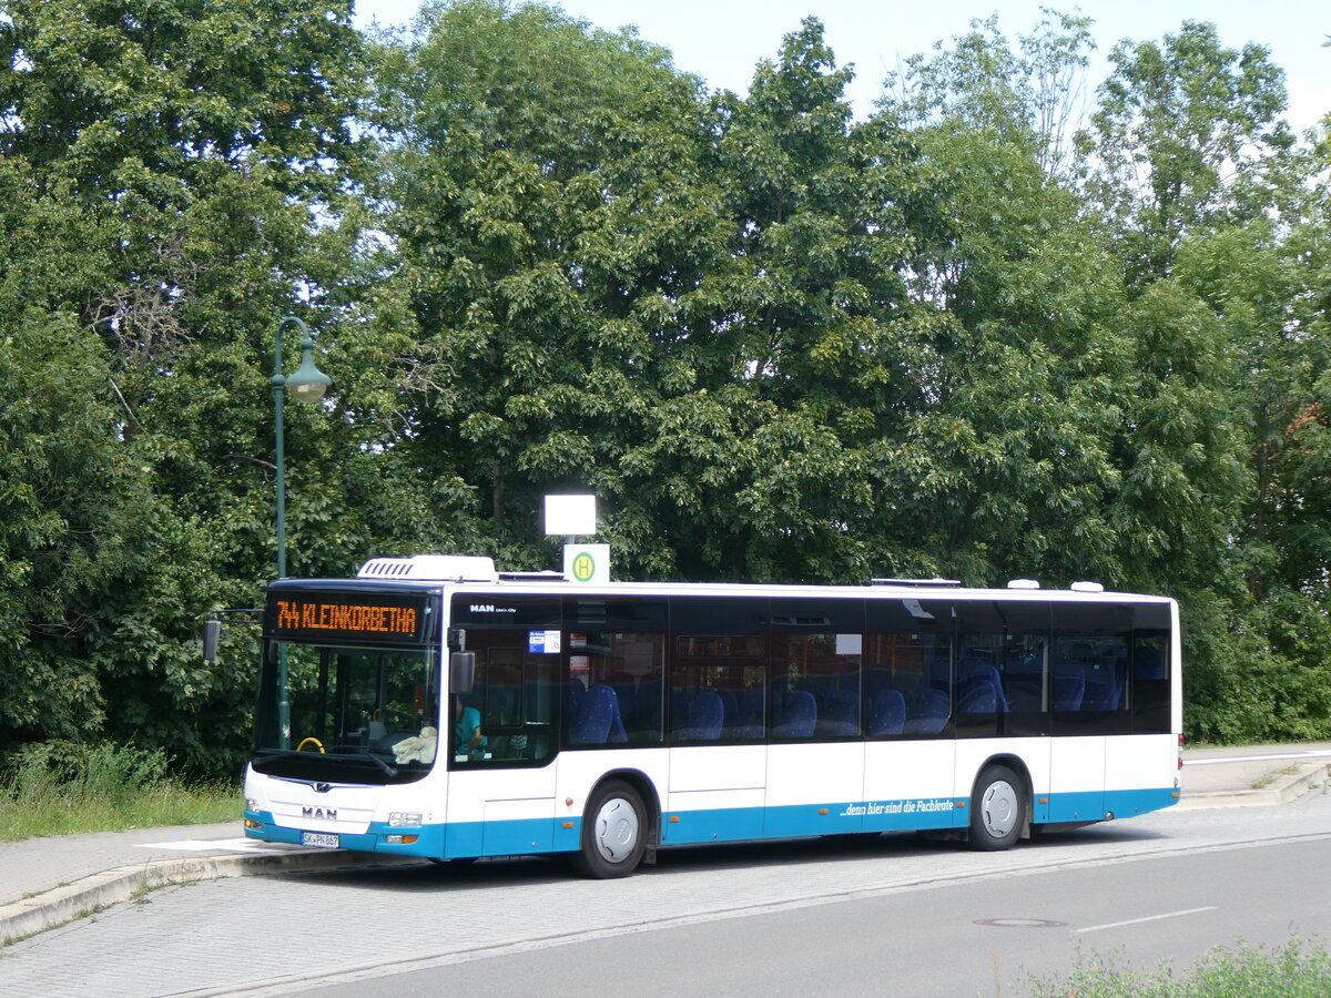
[[[114,436],[109,358],[69,317],[0,325],[0,744],[101,732],[88,661],[136,575],[152,495]]]

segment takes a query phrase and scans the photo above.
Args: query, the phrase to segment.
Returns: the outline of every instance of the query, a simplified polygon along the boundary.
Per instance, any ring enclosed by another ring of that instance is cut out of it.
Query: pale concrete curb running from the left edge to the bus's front
[[[0,906],[0,947],[172,884],[221,880],[224,877],[256,877],[293,870],[399,866],[410,862],[419,862],[419,860],[318,850],[148,860],[142,864],[95,873],[73,884],[65,884]]]

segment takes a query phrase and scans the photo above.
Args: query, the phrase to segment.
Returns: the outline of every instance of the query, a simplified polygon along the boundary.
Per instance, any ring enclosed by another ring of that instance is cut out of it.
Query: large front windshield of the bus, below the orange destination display
[[[430,648],[266,641],[256,711],[257,772],[397,784],[438,754],[439,667]]]

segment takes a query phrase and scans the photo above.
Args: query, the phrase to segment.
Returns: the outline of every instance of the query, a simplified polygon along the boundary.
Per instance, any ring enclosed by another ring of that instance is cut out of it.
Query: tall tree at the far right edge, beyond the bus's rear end
[[[1085,190],[1149,347],[1141,479],[1167,487],[1141,536],[1193,552],[1189,724],[1211,739],[1324,732],[1328,546],[1323,490],[1303,474],[1319,464],[1327,359],[1316,157],[1279,118],[1283,73],[1259,45],[1227,49],[1189,21],[1111,57],[1081,138]]]

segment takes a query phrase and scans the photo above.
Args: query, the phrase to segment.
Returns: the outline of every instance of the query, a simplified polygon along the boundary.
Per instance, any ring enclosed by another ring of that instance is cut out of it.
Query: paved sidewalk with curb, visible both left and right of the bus
[[[1178,808],[1284,804],[1328,774],[1331,743],[1189,749]],[[401,862],[256,842],[238,820],[0,842],[0,946],[166,884]]]

